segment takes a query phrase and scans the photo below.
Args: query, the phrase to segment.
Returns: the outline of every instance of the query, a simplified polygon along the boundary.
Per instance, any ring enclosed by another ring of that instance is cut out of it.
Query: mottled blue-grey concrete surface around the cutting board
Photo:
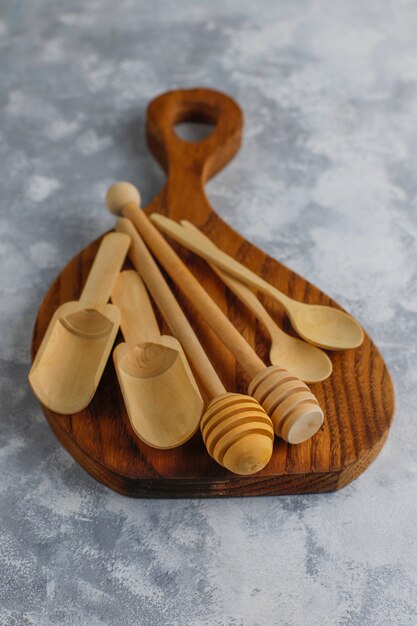
[[[417,3],[3,0],[0,624],[417,623]],[[333,495],[129,500],[61,448],[26,375],[37,307],[163,174],[148,101],[233,95],[245,144],[208,188],[245,237],[355,314],[394,376],[371,468]]]

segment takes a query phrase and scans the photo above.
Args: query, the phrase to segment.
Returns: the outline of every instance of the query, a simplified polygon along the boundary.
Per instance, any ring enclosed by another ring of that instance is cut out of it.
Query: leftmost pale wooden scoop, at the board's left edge
[[[81,411],[96,391],[119,329],[119,310],[107,302],[129,244],[123,233],[103,237],[80,299],[60,306],[51,319],[29,383],[55,413]]]

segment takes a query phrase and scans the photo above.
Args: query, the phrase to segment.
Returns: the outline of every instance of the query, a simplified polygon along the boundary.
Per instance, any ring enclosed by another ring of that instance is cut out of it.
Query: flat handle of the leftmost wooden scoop
[[[109,301],[129,246],[130,237],[125,233],[103,237],[79,299],[83,307],[99,309]]]

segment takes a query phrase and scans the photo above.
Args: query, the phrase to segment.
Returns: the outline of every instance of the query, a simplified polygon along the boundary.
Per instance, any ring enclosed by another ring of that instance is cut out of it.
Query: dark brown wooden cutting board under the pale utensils
[[[173,130],[184,121],[214,124],[214,130],[200,142],[187,142]],[[337,307],[317,287],[245,241],[211,208],[204,183],[238,151],[242,126],[238,105],[216,91],[173,91],[151,102],[147,112],[148,144],[168,178],[146,211],[194,222],[223,250],[291,297]],[[140,176],[138,182],[140,187]],[[62,303],[78,299],[98,245],[99,240],[75,257],[50,287],[36,320],[32,359],[54,311]],[[247,341],[268,362],[269,338],[264,328],[204,261],[175,247]],[[245,393],[248,380],[235,359],[201,320],[192,302],[175,292],[227,389]],[[279,305],[264,296],[261,300],[278,324],[292,332]],[[164,331],[167,332],[166,327]],[[120,340],[119,334],[117,341]],[[174,450],[154,450],[138,440],[130,427],[111,359],[87,409],[71,416],[57,415],[44,407],[43,411],[59,441],[87,472],[129,496],[334,491],[359,476],[381,450],[393,417],[394,393],[387,367],[368,336],[359,349],[332,352],[331,358],[332,376],[311,385],[325,412],[322,429],[300,445],[291,446],[276,439],[270,463],[249,477],[235,476],[217,465],[207,454],[200,433]]]

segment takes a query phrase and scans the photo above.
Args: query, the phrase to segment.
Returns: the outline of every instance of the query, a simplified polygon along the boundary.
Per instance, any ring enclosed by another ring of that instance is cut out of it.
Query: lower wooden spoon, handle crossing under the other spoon
[[[197,226],[187,220],[182,220],[181,224],[187,230],[190,239],[217,250],[217,246]],[[210,267],[267,329],[271,336],[269,360],[272,365],[284,367],[305,383],[317,383],[330,376],[332,362],[323,350],[285,333],[249,287],[213,263],[210,263]]]

